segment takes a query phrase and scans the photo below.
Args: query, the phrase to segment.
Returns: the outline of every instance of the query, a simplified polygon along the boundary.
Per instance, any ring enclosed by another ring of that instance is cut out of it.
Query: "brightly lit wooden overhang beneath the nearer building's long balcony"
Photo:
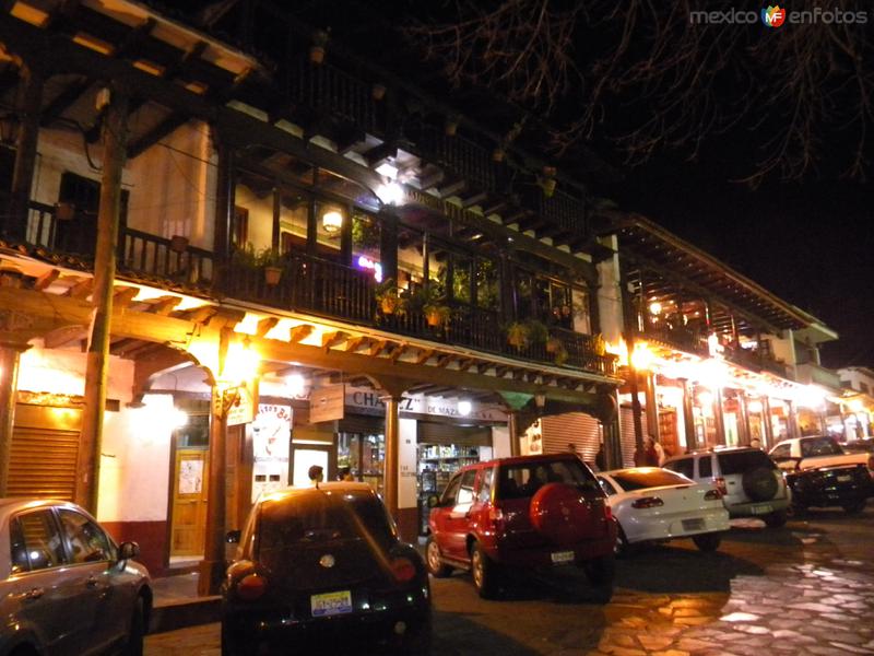
[[[25,344],[42,338],[49,348],[81,348],[93,312],[88,302],[92,277],[3,255],[27,281],[25,289],[0,286],[4,341]],[[261,371],[268,375],[305,366],[375,387],[390,379],[404,390],[432,395],[494,400],[501,394],[543,395],[580,408],[598,407],[599,395],[622,383],[613,376],[524,363],[368,327],[280,315],[253,305],[218,306],[204,298],[116,282],[110,351],[134,360],[138,385],[146,385],[162,371],[191,364],[192,341],[217,340],[223,328],[232,328],[236,339],[259,354]]]

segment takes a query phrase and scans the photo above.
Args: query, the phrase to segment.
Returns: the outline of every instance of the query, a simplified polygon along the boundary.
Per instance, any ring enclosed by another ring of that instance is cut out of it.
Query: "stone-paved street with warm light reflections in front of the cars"
[[[690,541],[619,562],[606,606],[576,570],[483,601],[466,575],[434,581],[435,654],[615,656],[874,654],[874,503],[783,529],[735,522],[720,551]],[[359,648],[356,648],[361,653]],[[217,655],[218,625],[150,636],[146,656]]]

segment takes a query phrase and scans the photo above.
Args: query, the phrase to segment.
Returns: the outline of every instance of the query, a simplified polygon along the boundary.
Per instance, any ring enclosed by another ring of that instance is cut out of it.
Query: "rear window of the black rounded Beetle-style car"
[[[374,539],[383,546],[394,538],[386,507],[374,494],[314,490],[261,506],[260,551],[355,538]]]

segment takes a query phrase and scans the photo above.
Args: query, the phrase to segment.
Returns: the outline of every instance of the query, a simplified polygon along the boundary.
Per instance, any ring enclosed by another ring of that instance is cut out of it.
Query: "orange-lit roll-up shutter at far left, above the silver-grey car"
[[[8,496],[74,499],[81,414],[78,408],[16,406]]]

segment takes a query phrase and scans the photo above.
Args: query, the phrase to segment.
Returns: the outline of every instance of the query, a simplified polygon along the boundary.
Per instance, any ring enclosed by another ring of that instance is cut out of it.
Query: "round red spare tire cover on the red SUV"
[[[574,544],[591,537],[594,519],[586,497],[564,483],[546,483],[531,497],[531,524],[556,544]]]

